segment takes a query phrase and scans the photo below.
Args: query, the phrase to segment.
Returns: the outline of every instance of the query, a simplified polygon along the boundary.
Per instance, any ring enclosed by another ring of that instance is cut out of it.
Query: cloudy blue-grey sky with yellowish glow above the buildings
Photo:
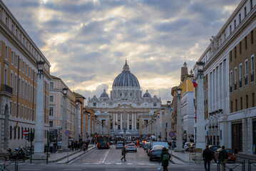
[[[71,90],[109,93],[127,58],[143,93],[165,103],[241,0],[3,1]]]

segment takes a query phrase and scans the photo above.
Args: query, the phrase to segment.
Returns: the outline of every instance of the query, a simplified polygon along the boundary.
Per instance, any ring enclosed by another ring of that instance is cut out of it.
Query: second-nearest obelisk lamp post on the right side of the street
[[[182,125],[181,125],[181,111],[180,111],[180,95],[181,95],[181,88],[177,89],[177,137],[176,137],[176,148],[175,151],[181,151],[183,150],[183,133],[182,133]]]

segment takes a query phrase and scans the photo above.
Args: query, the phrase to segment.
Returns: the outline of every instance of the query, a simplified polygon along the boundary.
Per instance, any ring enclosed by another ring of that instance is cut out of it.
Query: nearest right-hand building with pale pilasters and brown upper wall
[[[206,143],[250,155],[256,144],[255,5],[242,0],[198,60],[205,62]]]

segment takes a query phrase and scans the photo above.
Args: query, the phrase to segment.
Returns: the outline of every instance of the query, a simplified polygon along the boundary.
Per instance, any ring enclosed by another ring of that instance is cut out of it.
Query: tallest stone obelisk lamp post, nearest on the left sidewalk
[[[44,106],[43,106],[43,61],[38,61],[36,63],[38,68],[37,73],[37,93],[36,93],[36,125],[35,125],[35,142],[34,142],[34,159],[46,160],[44,156],[44,137],[43,137],[43,127],[44,127]]]

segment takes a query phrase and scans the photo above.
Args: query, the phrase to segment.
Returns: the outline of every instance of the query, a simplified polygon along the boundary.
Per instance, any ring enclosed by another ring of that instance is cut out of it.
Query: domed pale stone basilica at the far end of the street
[[[97,120],[104,125],[108,135],[142,135],[143,125],[150,123],[161,100],[143,94],[138,79],[130,72],[127,61],[123,71],[113,81],[110,96],[103,90],[99,98],[88,98],[88,106],[95,111]]]

